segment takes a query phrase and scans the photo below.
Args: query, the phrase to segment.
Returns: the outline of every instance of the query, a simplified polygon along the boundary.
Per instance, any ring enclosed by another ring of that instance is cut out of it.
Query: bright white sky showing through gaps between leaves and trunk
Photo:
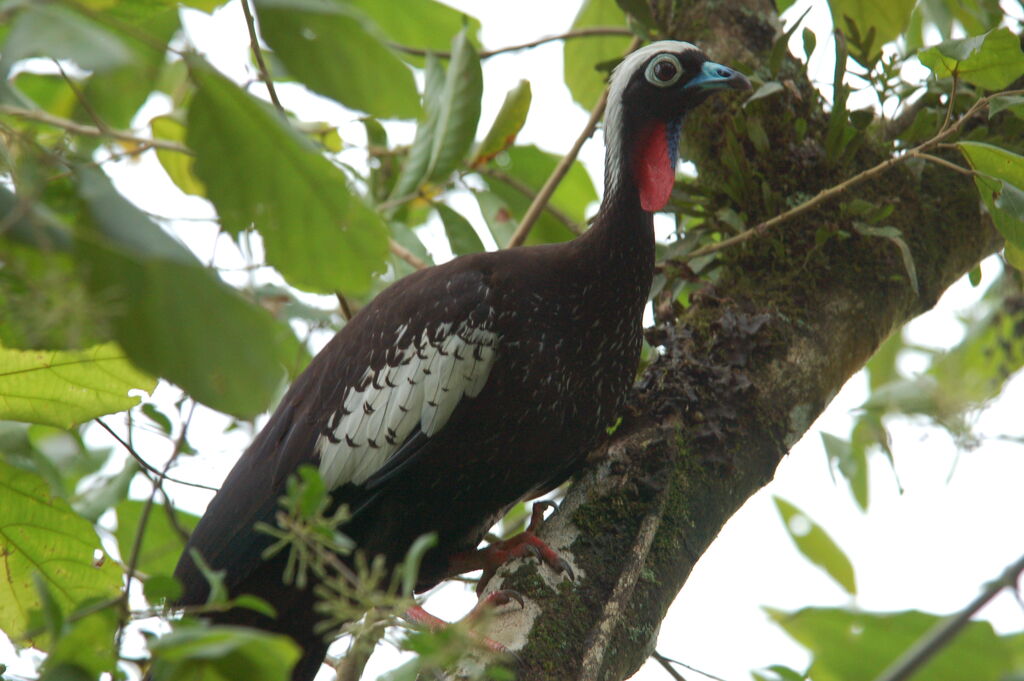
[[[561,33],[570,26],[577,4],[551,0],[447,1],[481,19],[480,37],[487,48]],[[799,16],[808,1],[798,3],[786,17]],[[811,78],[824,83],[830,80],[833,71],[833,47],[826,40],[830,20],[824,2],[814,5],[806,23],[818,36]],[[217,12],[213,18],[199,12],[187,15],[193,40],[218,68],[239,80],[251,77],[245,71],[248,45],[237,4]],[[799,35],[800,31],[793,49],[802,54]],[[534,98],[518,141],[564,152],[583,128],[588,114],[570,100],[561,72],[558,43],[486,60],[478,134],[483,134],[494,120],[505,93],[525,78],[530,81]],[[352,144],[365,141],[357,114],[307,95],[298,87],[285,87],[281,93],[286,107],[302,111],[307,120],[327,120],[338,125],[342,138]],[[160,101],[153,102],[140,116],[139,125],[163,113],[162,105]],[[412,139],[412,125],[393,126],[390,130],[392,142],[401,141],[401,136]],[[361,163],[361,156],[357,152],[352,154],[353,161]],[[600,191],[603,163],[600,134],[584,146],[581,158]],[[212,214],[205,202],[178,193],[152,159],[141,164],[109,164],[105,168],[119,187],[146,210],[171,216]],[[470,197],[458,197],[453,203],[474,224],[482,224],[476,203]],[[189,222],[176,231],[198,253],[209,254],[216,245],[218,262],[224,266],[244,264],[229,241],[218,239],[215,228],[209,225]],[[444,249],[437,247],[436,251],[442,256]],[[983,282],[991,282],[997,272],[996,262],[986,262]],[[953,345],[963,333],[954,312],[969,308],[979,293],[966,282],[958,283],[935,310],[909,325],[910,339],[927,346]],[[324,304],[330,306],[331,302]],[[177,394],[175,389],[162,386],[155,398],[169,403]],[[1024,494],[1020,492],[1020,480],[1024,480],[1022,448],[994,439],[998,435],[1024,436],[1020,418],[1024,380],[1020,376],[978,418],[977,432],[985,439],[975,451],[957,452],[944,432],[927,423],[890,423],[903,493],[899,493],[885,460],[874,456],[871,504],[866,514],[857,509],[844,481],[834,483],[820,439],[822,431],[846,437],[852,425],[851,411],[865,396],[866,381],[863,375],[857,375],[782,462],[775,480],[752,498],[725,526],[663,624],[658,643],[663,654],[727,681],[750,679],[750,670],[768,665],[782,664],[802,670],[809,662],[808,654],[771,624],[761,607],[797,609],[808,605],[851,604],[829,578],[798,554],[774,509],[772,495],[807,512],[846,551],[856,570],[859,589],[852,604],[867,610],[953,611],[1024,553],[1024,533],[1020,525],[1024,517]],[[202,454],[179,467],[176,476],[219,482],[251,437],[251,433],[239,431],[221,434],[223,425],[221,418],[201,414],[190,440]],[[158,438],[140,446],[150,455],[166,452],[167,448]],[[208,501],[202,494],[179,490],[182,491],[179,500],[184,499],[183,505],[189,510],[199,512]],[[141,484],[134,492],[148,493]],[[454,620],[474,602],[471,591],[452,584],[432,597],[427,607],[435,614]],[[991,620],[999,631],[1024,629],[1024,611],[1009,594],[997,598],[982,615]],[[8,654],[9,647],[0,646],[0,658]],[[371,661],[366,678],[393,668],[396,661],[392,648],[384,646]],[[699,678],[685,670],[683,674],[687,679]],[[331,675],[323,674],[321,678],[329,679]],[[656,663],[649,662],[634,678],[665,681],[669,677]]]

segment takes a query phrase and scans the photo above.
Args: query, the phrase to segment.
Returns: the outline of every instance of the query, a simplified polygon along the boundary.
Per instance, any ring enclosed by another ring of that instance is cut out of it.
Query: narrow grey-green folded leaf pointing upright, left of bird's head
[[[409,157],[391,196],[406,197],[423,182],[445,180],[466,157],[480,119],[483,78],[480,57],[461,32],[452,45],[452,58],[442,72],[428,57],[423,109],[426,118],[416,129]]]

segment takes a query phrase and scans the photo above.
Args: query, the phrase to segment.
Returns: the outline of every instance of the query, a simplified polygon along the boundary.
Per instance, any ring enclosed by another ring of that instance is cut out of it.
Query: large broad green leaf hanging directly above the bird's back
[[[267,262],[293,286],[318,293],[369,290],[387,254],[381,217],[272,109],[198,57],[189,66],[198,90],[188,110],[188,146],[224,229],[239,235],[255,225]]]

